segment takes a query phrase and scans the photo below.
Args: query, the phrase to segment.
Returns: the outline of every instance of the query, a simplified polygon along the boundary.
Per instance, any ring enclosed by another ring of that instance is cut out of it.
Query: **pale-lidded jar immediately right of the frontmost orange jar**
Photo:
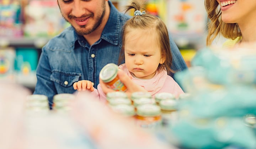
[[[161,100],[159,105],[161,108],[163,127],[170,127],[177,122],[177,101],[175,99]]]

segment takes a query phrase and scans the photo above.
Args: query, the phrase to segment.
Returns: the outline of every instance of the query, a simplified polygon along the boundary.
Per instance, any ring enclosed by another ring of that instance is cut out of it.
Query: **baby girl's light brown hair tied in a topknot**
[[[125,13],[130,9],[134,9],[134,12],[137,10],[145,10],[145,5],[146,3],[143,0],[134,0],[130,3],[130,5],[125,6]],[[122,31],[123,44],[119,56],[119,64],[121,64],[121,62],[124,60],[124,43],[126,40],[126,34],[133,28],[149,29],[156,32],[161,54],[165,57],[165,62],[163,64],[159,64],[157,70],[161,71],[162,69],[166,68],[169,75],[171,72],[174,72],[171,70],[172,55],[167,27],[159,17],[151,15],[147,12],[143,15],[137,15],[130,18],[124,24]],[[153,34],[155,34],[155,32]]]

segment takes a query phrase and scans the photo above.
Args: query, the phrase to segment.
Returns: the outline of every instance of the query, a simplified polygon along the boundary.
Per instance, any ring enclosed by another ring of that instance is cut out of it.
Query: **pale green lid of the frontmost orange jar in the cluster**
[[[158,105],[145,104],[137,107],[137,115],[139,116],[159,116],[161,109]]]

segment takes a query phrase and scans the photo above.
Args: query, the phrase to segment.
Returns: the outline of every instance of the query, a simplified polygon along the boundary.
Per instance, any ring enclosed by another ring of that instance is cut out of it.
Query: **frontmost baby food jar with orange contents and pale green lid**
[[[153,130],[161,128],[161,109],[158,105],[139,105],[135,118],[139,127]]]

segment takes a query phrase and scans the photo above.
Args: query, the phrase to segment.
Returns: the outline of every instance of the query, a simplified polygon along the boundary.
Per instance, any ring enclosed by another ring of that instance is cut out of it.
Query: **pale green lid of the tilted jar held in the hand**
[[[105,65],[100,71],[103,82],[110,82],[117,76],[118,66],[114,63]]]

